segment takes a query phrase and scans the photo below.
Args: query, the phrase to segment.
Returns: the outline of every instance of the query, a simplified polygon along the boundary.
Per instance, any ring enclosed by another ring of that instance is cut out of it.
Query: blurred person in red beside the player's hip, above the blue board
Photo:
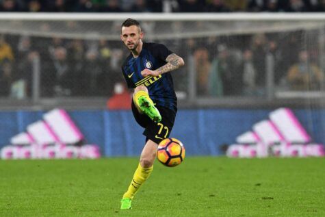
[[[107,101],[109,110],[131,110],[131,92],[127,90],[124,83],[117,82],[114,85],[114,94]]]

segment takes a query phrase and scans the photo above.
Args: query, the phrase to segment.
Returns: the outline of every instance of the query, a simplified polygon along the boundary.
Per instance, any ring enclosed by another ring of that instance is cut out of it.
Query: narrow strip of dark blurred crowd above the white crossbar
[[[324,12],[324,0],[1,0],[1,12]]]

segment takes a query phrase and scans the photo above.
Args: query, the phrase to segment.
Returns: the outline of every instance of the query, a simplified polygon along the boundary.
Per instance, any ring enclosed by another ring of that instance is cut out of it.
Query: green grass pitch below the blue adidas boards
[[[138,158],[0,161],[0,216],[325,216],[325,158],[155,162],[120,210]]]

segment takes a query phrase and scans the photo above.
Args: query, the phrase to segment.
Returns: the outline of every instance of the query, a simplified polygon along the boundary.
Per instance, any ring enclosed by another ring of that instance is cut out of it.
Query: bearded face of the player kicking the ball
[[[140,40],[143,38],[143,33],[136,25],[122,27],[120,39],[124,42],[127,49],[133,51],[138,47]]]

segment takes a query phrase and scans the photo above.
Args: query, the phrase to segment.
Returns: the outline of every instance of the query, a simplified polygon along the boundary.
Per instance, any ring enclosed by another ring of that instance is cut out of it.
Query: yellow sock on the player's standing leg
[[[130,186],[129,186],[127,192],[125,192],[125,194],[123,194],[123,199],[125,199],[125,198],[133,199],[134,195],[139,190],[142,183],[144,183],[144,181],[146,181],[146,179],[148,179],[148,177],[152,171],[153,171],[153,166],[151,166],[149,168],[143,168],[139,164],[138,168],[135,170],[133,179],[130,183]]]

